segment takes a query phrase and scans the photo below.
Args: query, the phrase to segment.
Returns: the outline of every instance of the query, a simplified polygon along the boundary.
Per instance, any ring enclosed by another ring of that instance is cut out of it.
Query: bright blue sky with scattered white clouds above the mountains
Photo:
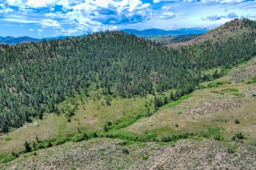
[[[256,20],[256,0],[0,0],[0,36],[75,36],[113,29],[212,29]]]

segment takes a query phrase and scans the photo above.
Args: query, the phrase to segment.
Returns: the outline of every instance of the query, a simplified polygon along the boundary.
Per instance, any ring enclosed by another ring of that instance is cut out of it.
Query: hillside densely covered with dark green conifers
[[[201,71],[223,66],[221,73],[213,75],[218,78],[225,68],[256,54],[255,22],[246,20],[245,26],[250,29],[240,39],[180,49],[121,31],[1,45],[0,131],[42,118],[44,112],[59,114],[62,110],[56,104],[66,97],[96,90],[108,97],[132,97],[177,89],[171,99],[179,99],[211,78]]]

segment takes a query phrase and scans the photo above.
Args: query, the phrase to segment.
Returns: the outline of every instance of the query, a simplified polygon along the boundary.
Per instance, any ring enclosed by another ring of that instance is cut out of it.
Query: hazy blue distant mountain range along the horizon
[[[181,28],[181,29],[175,29],[175,30],[164,30],[164,29],[145,29],[142,31],[139,31],[137,29],[122,29],[121,31],[125,33],[133,33],[137,35],[138,37],[145,37],[145,38],[152,38],[152,37],[158,37],[160,35],[165,36],[171,36],[171,37],[179,37],[182,35],[191,35],[191,34],[200,34],[200,33],[207,33],[209,29],[207,28]],[[80,35],[83,37],[83,35]],[[74,36],[60,36],[60,37],[47,37],[43,38],[46,40],[51,39],[66,39],[66,37],[74,37]],[[43,39],[34,39],[32,37],[0,37],[0,44],[20,44],[20,43],[28,43],[28,42],[40,42],[43,41]]]

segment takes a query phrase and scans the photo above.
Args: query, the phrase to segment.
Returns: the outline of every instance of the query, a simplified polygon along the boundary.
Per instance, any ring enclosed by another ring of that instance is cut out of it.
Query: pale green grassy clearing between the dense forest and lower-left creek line
[[[137,116],[146,114],[148,108],[152,110],[151,101],[153,95],[146,98],[135,99],[114,99],[111,105],[102,105],[104,99],[94,101],[93,99],[78,101],[78,110],[72,116],[71,122],[63,115],[47,114],[43,120],[35,120],[32,123],[25,124],[23,127],[15,129],[7,135],[0,138],[1,160],[8,156],[11,151],[19,152],[24,149],[25,141],[35,141],[39,139],[54,139],[56,137],[72,136],[78,133],[78,127],[81,132],[91,134],[93,132],[103,133],[103,127],[110,121],[113,125],[133,124],[137,121]],[[66,101],[70,103],[69,101]],[[61,105],[65,105],[62,103]],[[67,104],[70,105],[70,104]],[[147,105],[147,107],[145,107]],[[154,103],[153,103],[154,105]]]

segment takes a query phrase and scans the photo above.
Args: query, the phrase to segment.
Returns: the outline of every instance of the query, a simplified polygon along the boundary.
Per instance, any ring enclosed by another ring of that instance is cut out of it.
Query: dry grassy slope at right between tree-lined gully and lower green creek
[[[247,137],[244,141],[256,140],[255,127],[255,83],[247,83],[253,80],[256,73],[256,58],[236,67],[228,75],[211,82],[203,82],[204,89],[196,90],[185,100],[169,103],[148,118],[142,118],[139,122],[121,129],[120,133],[135,133],[136,135],[158,135],[161,137],[179,133],[200,133],[209,131],[209,127],[219,129],[225,141],[231,141],[231,137],[238,132]],[[237,73],[241,68],[251,71],[249,77],[241,82],[235,82],[244,72]],[[233,74],[237,73],[237,74]],[[235,76],[235,77],[234,77]],[[214,85],[209,88],[209,84]],[[179,105],[177,105],[179,104]],[[173,107],[171,107],[173,106]],[[235,124],[234,120],[240,120]],[[179,127],[175,125],[178,124]]]

